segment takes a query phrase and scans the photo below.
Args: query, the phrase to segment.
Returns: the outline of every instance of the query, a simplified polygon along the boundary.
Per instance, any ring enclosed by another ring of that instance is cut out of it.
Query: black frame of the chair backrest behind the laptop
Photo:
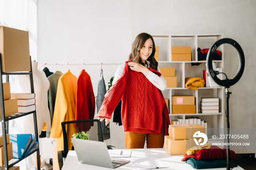
[[[103,142],[101,122],[98,119],[86,119],[86,120],[72,120],[72,121],[63,121],[61,122],[62,132],[63,132],[63,142],[64,142],[64,150],[62,151],[63,158],[66,158],[68,155],[68,137],[65,125],[71,123],[83,123],[83,122],[97,122],[98,124],[98,140]]]

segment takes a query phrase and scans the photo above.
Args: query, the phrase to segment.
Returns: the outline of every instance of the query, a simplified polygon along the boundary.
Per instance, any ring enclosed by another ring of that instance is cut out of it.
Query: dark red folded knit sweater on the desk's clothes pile
[[[229,151],[229,158],[233,160],[236,159],[236,153],[232,150]],[[212,145],[209,149],[198,150],[192,155],[184,154],[184,158],[181,159],[181,161],[186,161],[188,158],[195,158],[196,160],[226,159],[226,149]]]

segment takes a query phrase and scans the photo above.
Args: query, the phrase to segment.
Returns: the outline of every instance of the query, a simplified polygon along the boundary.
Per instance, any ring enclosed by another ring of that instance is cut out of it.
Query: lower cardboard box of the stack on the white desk
[[[202,139],[202,141],[204,141]],[[202,142],[201,142],[202,143]],[[187,140],[174,140],[172,138],[167,138],[166,151],[169,155],[184,155],[187,151],[197,146],[195,140],[187,139]]]

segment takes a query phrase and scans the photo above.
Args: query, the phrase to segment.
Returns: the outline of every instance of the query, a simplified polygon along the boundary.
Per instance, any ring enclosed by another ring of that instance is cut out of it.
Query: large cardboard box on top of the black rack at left
[[[30,71],[29,32],[0,26],[2,72]]]

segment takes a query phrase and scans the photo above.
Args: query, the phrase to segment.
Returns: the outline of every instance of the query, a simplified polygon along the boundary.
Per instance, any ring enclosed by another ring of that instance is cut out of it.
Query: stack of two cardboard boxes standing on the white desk
[[[170,155],[184,155],[186,154],[187,150],[197,146],[194,139],[196,139],[198,142],[199,139],[202,138],[196,137],[199,133],[198,131],[200,131],[200,133],[204,133],[205,128],[200,124],[170,125],[169,135],[165,136],[163,148]],[[204,139],[200,141],[200,143],[203,142]]]

